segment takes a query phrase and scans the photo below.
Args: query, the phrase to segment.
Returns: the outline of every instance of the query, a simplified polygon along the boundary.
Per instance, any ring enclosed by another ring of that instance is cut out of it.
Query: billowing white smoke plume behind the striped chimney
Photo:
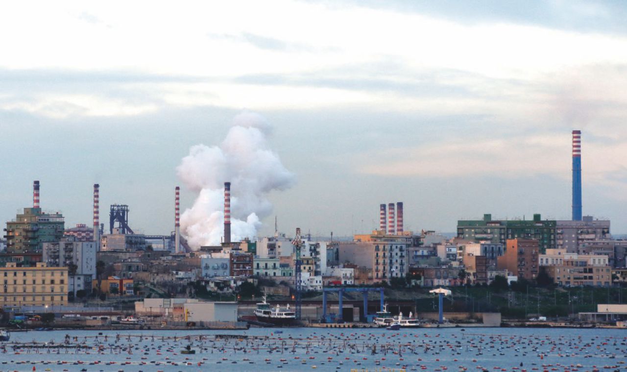
[[[268,147],[270,124],[259,114],[243,112],[219,146],[195,145],[176,168],[187,188],[198,193],[181,215],[181,233],[190,247],[219,245],[224,235],[224,182],[231,182],[231,240],[254,238],[260,218],[270,215],[272,190],[294,183],[277,153]]]

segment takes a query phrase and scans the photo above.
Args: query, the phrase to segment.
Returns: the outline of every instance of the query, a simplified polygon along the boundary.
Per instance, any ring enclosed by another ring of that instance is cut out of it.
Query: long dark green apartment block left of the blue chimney
[[[556,226],[554,220],[544,220],[534,215],[533,220],[492,220],[492,215],[483,215],[483,220],[457,221],[457,237],[475,242],[505,244],[507,239],[535,239],[540,252],[556,248]]]

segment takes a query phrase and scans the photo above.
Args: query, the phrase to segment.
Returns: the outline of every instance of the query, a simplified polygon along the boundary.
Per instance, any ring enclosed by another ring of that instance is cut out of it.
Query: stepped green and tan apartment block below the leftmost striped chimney
[[[7,221],[7,253],[41,253],[43,243],[60,242],[65,222],[59,213],[43,213],[41,208],[24,208],[14,221]]]

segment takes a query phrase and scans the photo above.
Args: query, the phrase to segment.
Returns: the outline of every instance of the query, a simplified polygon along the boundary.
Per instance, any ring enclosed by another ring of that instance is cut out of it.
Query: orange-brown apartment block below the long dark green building
[[[505,252],[497,258],[497,268],[521,279],[534,280],[538,275],[539,244],[533,239],[508,239]]]

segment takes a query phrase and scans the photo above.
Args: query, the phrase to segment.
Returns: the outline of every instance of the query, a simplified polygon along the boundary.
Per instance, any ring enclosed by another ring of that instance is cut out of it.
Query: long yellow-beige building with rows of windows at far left
[[[68,268],[48,267],[38,262],[36,267],[18,267],[7,262],[0,267],[0,306],[59,306],[68,304]]]

